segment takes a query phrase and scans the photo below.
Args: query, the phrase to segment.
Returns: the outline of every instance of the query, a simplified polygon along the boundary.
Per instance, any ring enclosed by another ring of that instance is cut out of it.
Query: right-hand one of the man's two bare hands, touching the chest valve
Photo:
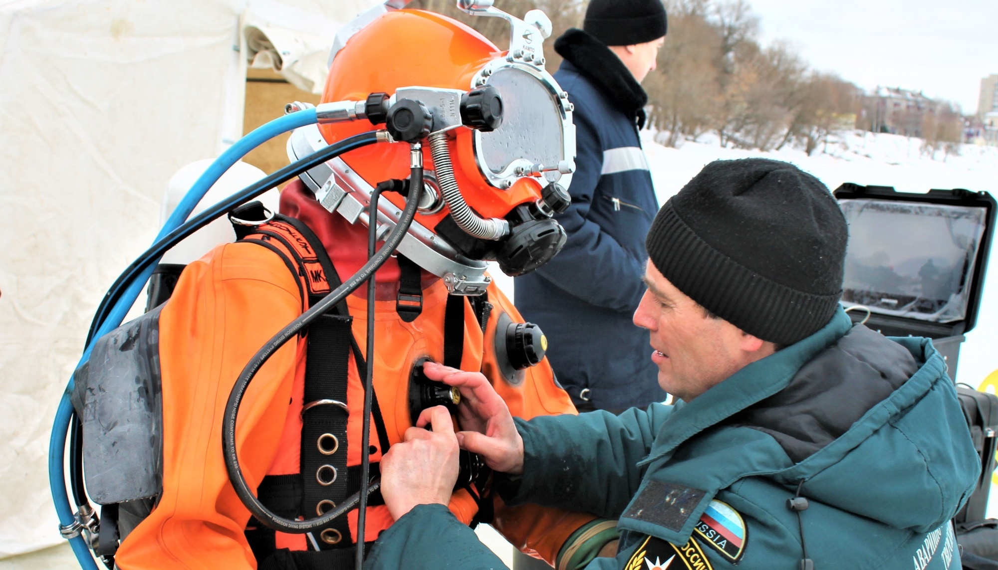
[[[502,398],[484,376],[461,372],[440,364],[423,365],[426,378],[456,386],[461,391],[458,419],[465,431],[457,432],[461,447],[478,453],[493,470],[518,475],[523,472],[523,438]],[[394,447],[392,447],[394,448]]]

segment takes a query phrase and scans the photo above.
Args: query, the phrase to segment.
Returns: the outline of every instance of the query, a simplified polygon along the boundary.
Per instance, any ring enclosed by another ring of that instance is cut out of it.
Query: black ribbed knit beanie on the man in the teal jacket
[[[820,180],[787,162],[744,158],[704,166],[659,210],[645,245],[680,291],[785,346],[834,314],[847,238]]]

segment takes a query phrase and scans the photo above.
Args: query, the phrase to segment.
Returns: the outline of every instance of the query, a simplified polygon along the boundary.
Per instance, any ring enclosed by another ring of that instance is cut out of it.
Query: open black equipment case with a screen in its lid
[[[865,310],[849,316],[887,336],[932,339],[955,378],[963,335],[977,322],[995,199],[963,188],[916,194],[851,182],[833,194],[849,222],[842,304],[870,310],[868,319]]]

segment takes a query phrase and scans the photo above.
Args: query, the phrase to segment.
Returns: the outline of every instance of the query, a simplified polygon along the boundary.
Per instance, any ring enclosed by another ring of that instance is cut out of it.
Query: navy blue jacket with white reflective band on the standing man
[[[516,306],[547,335],[548,359],[577,405],[588,388],[597,409],[644,408],[666,398],[648,332],[632,322],[645,291],[645,236],[659,209],[652,177],[635,115],[567,59],[555,79],[575,106],[572,205],[555,216],[568,241],[549,263],[516,279]]]

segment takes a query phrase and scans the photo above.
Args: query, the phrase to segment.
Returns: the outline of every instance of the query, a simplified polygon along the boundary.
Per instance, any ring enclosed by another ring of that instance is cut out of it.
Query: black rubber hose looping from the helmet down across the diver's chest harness
[[[324,313],[335,307],[340,301],[346,298],[347,295],[355,291],[360,285],[367,281],[367,279],[374,278],[374,272],[378,270],[379,267],[384,265],[384,262],[389,259],[391,254],[401,243],[402,238],[405,237],[406,231],[409,229],[409,225],[412,223],[412,219],[416,215],[416,207],[419,204],[419,198],[423,191],[423,169],[422,165],[413,166],[411,170],[411,179],[413,181],[418,181],[418,184],[414,186],[410,184],[409,195],[405,202],[405,208],[402,210],[402,215],[398,219],[398,223],[394,228],[388,233],[388,237],[384,240],[384,245],[381,249],[377,250],[367,263],[364,263],[352,277],[347,279],[342,285],[336,287],[336,289],[322,298],[321,301],[315,303],[314,306],[309,308],[307,311],[302,313],[296,319],[288,323],[286,327],[281,329],[276,335],[270,338],[256,354],[250,359],[243,372],[240,374],[239,379],[236,381],[236,385],[233,386],[232,392],[229,394],[229,401],[226,403],[226,412],[223,417],[222,423],[222,447],[223,454],[226,460],[226,470],[229,471],[229,480],[233,483],[233,487],[236,489],[236,494],[243,501],[243,504],[250,510],[252,515],[256,517],[263,526],[272,528],[274,530],[279,530],[281,532],[302,534],[310,530],[315,530],[321,528],[335,518],[341,516],[344,512],[350,510],[347,508],[353,497],[356,497],[357,504],[360,501],[360,497],[366,495],[361,495],[359,492],[355,495],[351,495],[350,499],[346,502],[339,504],[332,510],[326,512],[320,517],[312,518],[308,520],[291,520],[278,516],[277,514],[271,512],[266,508],[263,503],[259,502],[256,496],[253,494],[253,489],[250,489],[250,484],[247,483],[246,477],[243,476],[243,469],[240,467],[239,455],[236,450],[236,420],[239,417],[240,405],[243,403],[243,397],[246,396],[247,389],[250,387],[250,382],[259,371],[259,368],[263,366],[263,363],[270,358],[273,353],[275,353],[280,347],[284,346],[287,341],[301,332],[302,329],[307,327],[315,319],[323,315]],[[368,221],[370,224],[376,224],[377,218]],[[368,307],[368,311],[372,308]],[[370,362],[372,355],[367,355],[367,361]],[[371,377],[367,377],[367,383],[371,382]],[[370,391],[367,392],[366,398],[369,398],[371,394]],[[365,402],[368,410],[370,409],[369,403]],[[369,427],[369,424],[368,424]],[[367,449],[361,449],[361,452],[366,452]],[[361,481],[361,488],[363,487],[364,481]],[[367,493],[374,490],[375,485],[371,483],[370,487],[367,489]],[[362,539],[358,540],[362,542]]]

